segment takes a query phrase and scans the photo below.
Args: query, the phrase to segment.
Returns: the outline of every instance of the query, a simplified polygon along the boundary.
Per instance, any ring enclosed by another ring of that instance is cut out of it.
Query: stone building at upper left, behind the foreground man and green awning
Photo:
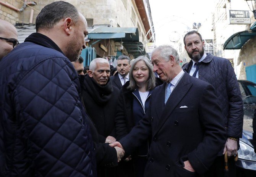
[[[147,35],[149,29],[153,26],[150,6],[148,0],[65,0],[76,6],[87,19],[88,27],[93,28],[96,25],[109,27],[136,27],[138,28],[139,41],[147,41],[151,36]],[[24,2],[30,6],[24,6]],[[35,0],[35,3],[29,0],[0,0],[0,18],[11,22],[16,26],[35,24],[36,16],[42,8],[54,0]],[[146,14],[146,16],[145,16]],[[142,16],[141,16],[142,15]],[[146,19],[146,20],[145,20]],[[90,29],[89,29],[90,30]],[[152,31],[154,28],[151,29]],[[18,30],[19,32],[19,30]],[[35,31],[34,31],[35,32]],[[151,32],[150,34],[153,34]],[[27,34],[27,33],[25,33]],[[21,32],[22,39],[25,38]],[[147,38],[147,40],[145,40]],[[153,38],[154,39],[154,38]],[[23,41],[21,41],[23,42]],[[111,47],[107,55],[116,55],[117,45],[119,43],[113,40],[101,40],[100,43],[109,44]],[[145,45],[145,44],[143,44]],[[98,57],[103,57],[106,53],[99,48],[99,43],[94,44]],[[123,54],[127,54],[123,52]]]

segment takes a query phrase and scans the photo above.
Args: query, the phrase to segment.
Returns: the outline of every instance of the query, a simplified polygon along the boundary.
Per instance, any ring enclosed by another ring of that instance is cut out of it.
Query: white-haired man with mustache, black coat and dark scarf
[[[116,140],[114,138],[115,113],[119,89],[112,86],[109,76],[109,62],[104,58],[96,58],[91,61],[88,74],[84,76],[84,82],[82,85],[82,97],[86,112],[90,116],[94,127],[99,133],[99,137],[96,141],[97,143],[112,143]],[[95,135],[92,137],[95,140]],[[102,151],[106,150],[107,148],[102,148]],[[115,156],[116,151],[112,150],[110,153]],[[110,153],[108,154],[109,156]],[[99,159],[99,156],[97,155],[99,154],[96,153],[96,159]],[[97,163],[100,164],[98,161]],[[106,167],[110,166],[114,165],[110,164]],[[97,167],[98,177],[113,176],[114,171],[114,168]]]

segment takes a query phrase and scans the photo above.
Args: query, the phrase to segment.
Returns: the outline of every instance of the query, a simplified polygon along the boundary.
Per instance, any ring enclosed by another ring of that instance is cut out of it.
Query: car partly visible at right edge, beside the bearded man
[[[238,80],[243,97],[243,134],[238,150],[237,177],[256,177],[256,153],[253,147],[253,115],[256,109],[256,84],[248,80]]]

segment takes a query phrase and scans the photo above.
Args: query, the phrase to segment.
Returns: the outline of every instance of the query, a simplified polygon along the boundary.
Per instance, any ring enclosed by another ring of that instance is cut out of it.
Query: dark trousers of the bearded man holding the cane
[[[224,155],[218,156],[209,170],[204,174],[204,177],[235,177],[236,165],[234,157],[228,159],[228,171],[224,170]]]

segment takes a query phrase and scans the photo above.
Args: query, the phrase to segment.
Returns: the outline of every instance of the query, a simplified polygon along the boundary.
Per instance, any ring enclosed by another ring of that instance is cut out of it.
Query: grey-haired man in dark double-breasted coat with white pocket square
[[[139,125],[111,145],[123,148],[128,156],[151,135],[144,176],[203,175],[226,140],[215,90],[181,69],[172,46],[154,49],[151,61],[165,83],[152,92],[149,109]]]

